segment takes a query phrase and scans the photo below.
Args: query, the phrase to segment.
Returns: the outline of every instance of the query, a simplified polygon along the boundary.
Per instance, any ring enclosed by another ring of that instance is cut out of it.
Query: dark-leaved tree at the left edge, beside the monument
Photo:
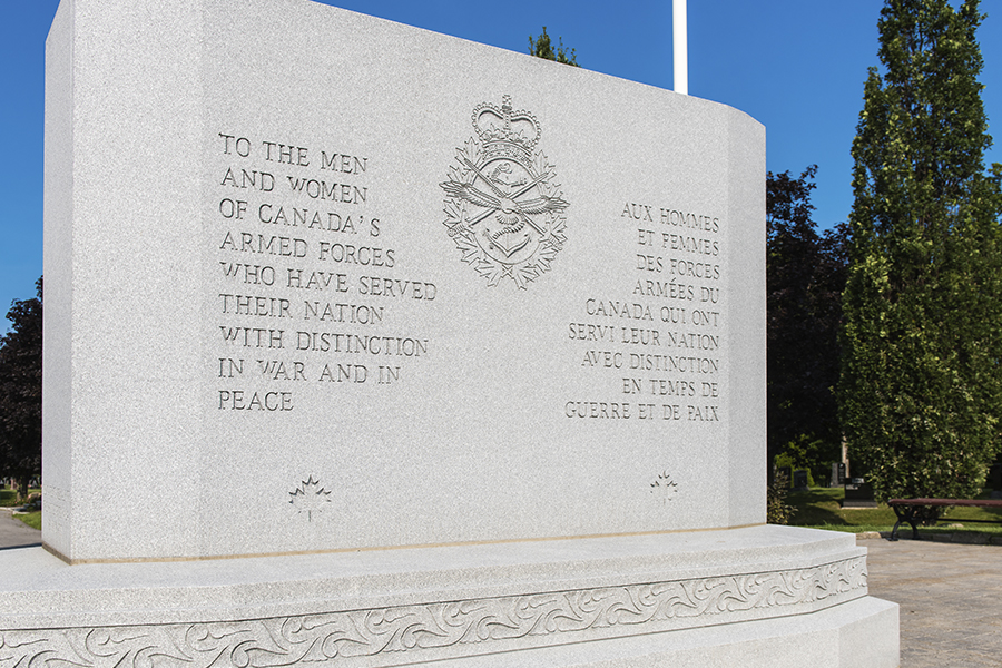
[[[17,479],[22,500],[41,474],[41,278],[36,287],[37,298],[11,304],[0,336],[0,475]]]

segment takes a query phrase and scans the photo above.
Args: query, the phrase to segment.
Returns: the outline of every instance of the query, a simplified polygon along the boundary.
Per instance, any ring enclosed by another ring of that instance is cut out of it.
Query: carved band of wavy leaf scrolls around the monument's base
[[[859,557],[799,570],[347,612],[8,630],[0,631],[0,668],[392,666],[794,615],[865,589]]]

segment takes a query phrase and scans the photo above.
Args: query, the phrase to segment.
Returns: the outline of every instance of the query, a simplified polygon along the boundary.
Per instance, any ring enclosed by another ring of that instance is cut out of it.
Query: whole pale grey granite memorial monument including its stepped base
[[[63,0],[0,666],[896,666],[765,524],[765,130],[307,0]]]

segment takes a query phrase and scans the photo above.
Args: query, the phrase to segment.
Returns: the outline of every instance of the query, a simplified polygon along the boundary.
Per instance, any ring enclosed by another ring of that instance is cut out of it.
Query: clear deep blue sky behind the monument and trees
[[[543,26],[588,69],[672,87],[670,0],[328,0],[345,9],[525,52]],[[234,2],[237,7],[239,2]],[[35,294],[42,267],[45,39],[57,0],[3,0],[0,20],[0,315]],[[815,220],[846,219],[849,147],[883,0],[688,0],[689,94],[766,126],[772,171],[817,164]],[[1002,4],[979,32],[981,81],[1002,144]],[[266,40],[267,36],[261,36]],[[629,100],[623,100],[625,105]],[[995,146],[988,163],[1002,163]],[[8,322],[0,322],[0,331]]]

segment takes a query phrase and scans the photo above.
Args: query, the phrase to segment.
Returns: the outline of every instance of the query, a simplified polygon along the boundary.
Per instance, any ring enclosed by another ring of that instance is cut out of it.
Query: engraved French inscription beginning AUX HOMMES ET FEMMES
[[[612,213],[610,212],[610,217]],[[586,295],[566,325],[576,363],[608,379],[606,397],[567,401],[568,418],[719,422],[725,272],[719,216],[627,200],[630,271],[618,294]],[[705,256],[705,257],[692,257]],[[617,267],[620,268],[620,267]],[[616,396],[618,395],[618,396]],[[629,401],[625,401],[629,400]]]

